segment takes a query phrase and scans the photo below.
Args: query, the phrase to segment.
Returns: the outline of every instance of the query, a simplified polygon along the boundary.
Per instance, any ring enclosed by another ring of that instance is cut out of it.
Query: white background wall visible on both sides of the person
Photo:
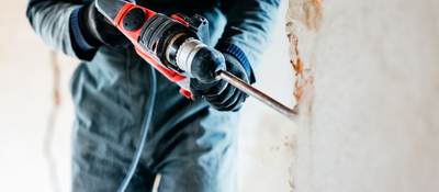
[[[0,190],[50,191],[43,138],[53,103],[49,49],[32,32],[25,19],[26,1],[0,8]],[[283,30],[286,1],[272,45],[259,68],[258,87],[293,104],[293,74],[288,61]],[[63,191],[69,190],[69,153],[72,106],[69,76],[77,60],[58,55],[61,106],[52,151]],[[279,88],[282,89],[279,89]],[[289,191],[294,125],[250,99],[239,127],[239,191]]]

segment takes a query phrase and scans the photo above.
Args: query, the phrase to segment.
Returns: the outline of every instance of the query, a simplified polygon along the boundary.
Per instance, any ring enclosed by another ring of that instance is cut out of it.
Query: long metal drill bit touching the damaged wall
[[[271,109],[278,111],[279,113],[285,115],[290,120],[292,120],[292,121],[297,120],[297,112],[295,110],[288,108],[286,105],[274,100],[273,98],[269,97],[268,94],[263,93],[262,91],[244,82],[243,80],[240,80],[236,76],[232,75],[230,72],[221,70],[221,71],[218,71],[217,77],[219,79],[227,81],[228,83],[230,83],[235,88],[241,90],[243,92],[247,93],[248,95],[254,97],[255,99],[259,100],[260,102],[264,103],[266,105],[270,106]]]

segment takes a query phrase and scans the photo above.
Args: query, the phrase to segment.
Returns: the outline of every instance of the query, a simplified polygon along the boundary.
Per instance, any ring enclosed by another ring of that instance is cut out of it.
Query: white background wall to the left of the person
[[[43,138],[52,109],[49,49],[25,19],[27,1],[0,8],[0,190],[50,191]],[[68,189],[71,104],[67,92],[74,60],[61,60],[63,106],[53,151],[63,188]]]

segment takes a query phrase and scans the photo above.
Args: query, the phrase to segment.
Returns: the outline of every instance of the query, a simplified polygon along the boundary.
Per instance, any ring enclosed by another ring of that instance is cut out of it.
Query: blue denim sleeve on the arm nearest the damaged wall
[[[218,49],[232,53],[241,64],[248,63],[250,66],[247,68],[251,69],[268,45],[279,3],[280,0],[226,1],[222,9],[227,25],[218,42]]]

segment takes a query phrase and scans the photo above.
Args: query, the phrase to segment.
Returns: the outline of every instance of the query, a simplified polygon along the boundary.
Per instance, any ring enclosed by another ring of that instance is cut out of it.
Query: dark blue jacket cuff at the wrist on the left
[[[80,59],[91,60],[97,52],[97,47],[87,42],[79,24],[79,11],[82,7],[75,9],[69,18],[70,39],[75,54]]]

